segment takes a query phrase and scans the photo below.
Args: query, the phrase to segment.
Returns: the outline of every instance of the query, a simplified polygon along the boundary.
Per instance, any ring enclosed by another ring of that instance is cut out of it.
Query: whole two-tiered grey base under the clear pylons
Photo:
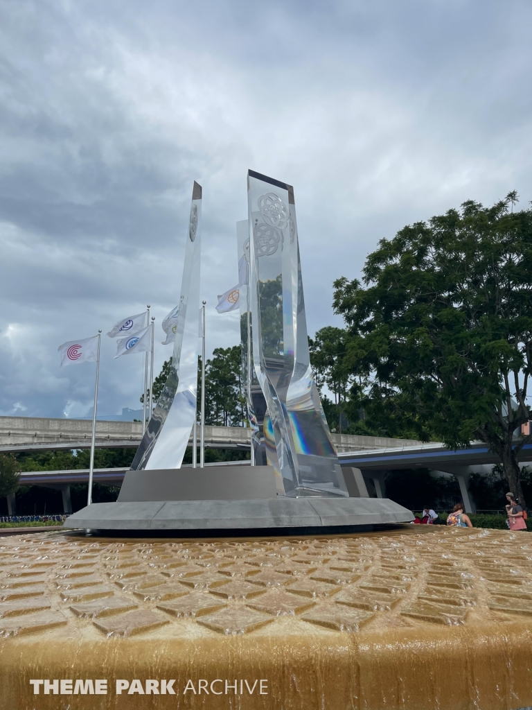
[[[272,466],[128,471],[116,503],[92,503],[65,528],[92,530],[291,530],[345,532],[408,523],[410,510],[386,498],[277,496]]]

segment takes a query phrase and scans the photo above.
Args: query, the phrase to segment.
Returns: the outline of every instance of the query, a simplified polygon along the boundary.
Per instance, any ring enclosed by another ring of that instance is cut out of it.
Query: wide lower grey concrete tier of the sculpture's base
[[[247,501],[93,503],[65,528],[96,530],[308,530],[405,523],[410,510],[387,498],[255,498]]]

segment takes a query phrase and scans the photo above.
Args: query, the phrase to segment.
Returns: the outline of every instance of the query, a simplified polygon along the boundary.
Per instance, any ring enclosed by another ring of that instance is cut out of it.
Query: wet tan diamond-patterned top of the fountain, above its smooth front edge
[[[530,542],[528,540],[530,539]],[[532,617],[532,537],[0,541],[0,637],[371,633]],[[289,627],[282,626],[289,623]]]

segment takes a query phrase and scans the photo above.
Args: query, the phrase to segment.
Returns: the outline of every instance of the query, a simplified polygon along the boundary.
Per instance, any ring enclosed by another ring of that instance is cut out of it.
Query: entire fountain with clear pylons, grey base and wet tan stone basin
[[[0,540],[0,707],[531,705],[532,542],[401,525],[409,510],[346,484],[309,366],[294,193],[252,172],[248,187],[255,466],[179,468],[196,409],[194,185],[172,372],[118,502],[67,520],[89,534]]]

